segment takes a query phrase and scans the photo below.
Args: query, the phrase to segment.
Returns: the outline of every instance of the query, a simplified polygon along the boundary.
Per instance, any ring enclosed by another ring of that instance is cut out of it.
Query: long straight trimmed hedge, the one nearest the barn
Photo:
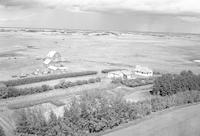
[[[95,74],[97,74],[97,71],[83,71],[83,72],[73,72],[73,73],[65,73],[65,74],[55,74],[55,75],[47,75],[47,76],[22,78],[22,79],[16,79],[16,80],[8,80],[8,81],[2,81],[2,83],[4,83],[7,87],[9,87],[9,86],[31,84],[31,83],[36,83],[36,82],[48,81],[48,80],[55,80],[55,79],[60,79],[60,78],[78,77],[78,76],[95,75]]]

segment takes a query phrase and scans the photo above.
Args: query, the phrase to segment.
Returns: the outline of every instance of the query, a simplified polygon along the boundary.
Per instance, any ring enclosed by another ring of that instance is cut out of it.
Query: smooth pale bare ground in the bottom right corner
[[[199,136],[200,104],[157,115],[104,136]]]

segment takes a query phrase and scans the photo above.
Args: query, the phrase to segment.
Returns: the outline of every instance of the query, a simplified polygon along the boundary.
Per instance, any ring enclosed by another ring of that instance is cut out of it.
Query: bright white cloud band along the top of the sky
[[[1,0],[5,7],[62,8],[71,11],[200,13],[199,0]]]

